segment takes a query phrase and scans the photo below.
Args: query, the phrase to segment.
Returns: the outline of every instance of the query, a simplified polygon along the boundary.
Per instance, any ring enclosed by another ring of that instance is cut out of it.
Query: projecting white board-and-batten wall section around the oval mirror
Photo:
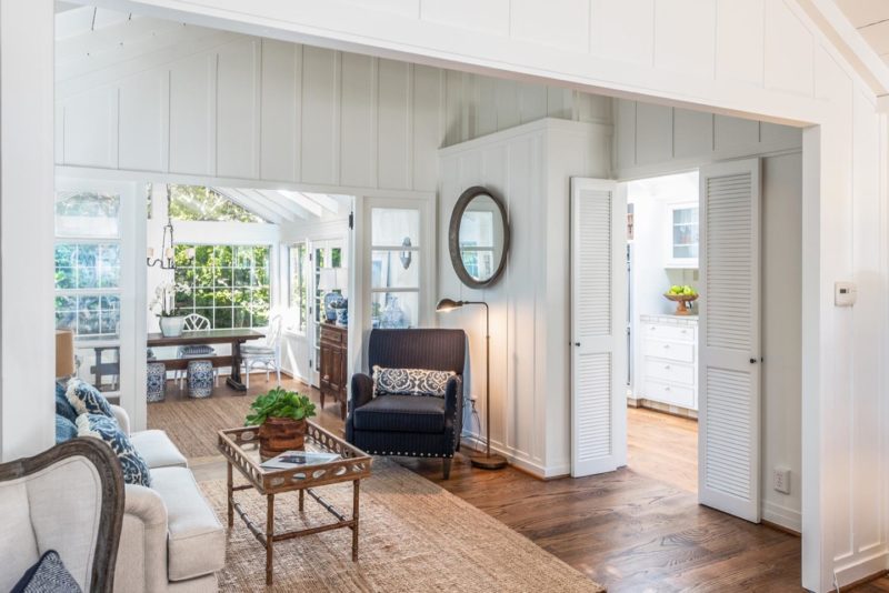
[[[570,471],[569,181],[607,178],[610,125],[543,119],[439,151],[439,298],[485,301],[491,314],[491,446],[541,478]],[[503,200],[510,252],[503,275],[481,290],[463,285],[448,253],[448,225],[460,193],[483,185]],[[466,390],[485,423],[485,312],[439,315],[469,340]],[[478,444],[469,411],[465,438]]]

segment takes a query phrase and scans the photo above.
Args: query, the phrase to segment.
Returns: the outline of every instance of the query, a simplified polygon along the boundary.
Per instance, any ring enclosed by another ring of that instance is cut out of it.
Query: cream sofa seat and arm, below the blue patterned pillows
[[[112,406],[121,429],[130,419]],[[226,531],[182,453],[158,430],[130,434],[151,471],[151,488],[127,484],[114,591],[217,591],[226,563]]]

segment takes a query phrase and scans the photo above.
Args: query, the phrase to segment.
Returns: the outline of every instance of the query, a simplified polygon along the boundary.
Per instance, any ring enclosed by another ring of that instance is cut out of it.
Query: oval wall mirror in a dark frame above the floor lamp
[[[463,284],[473,289],[492,284],[503,273],[509,252],[503,202],[479,185],[466,190],[451,213],[448,245]]]

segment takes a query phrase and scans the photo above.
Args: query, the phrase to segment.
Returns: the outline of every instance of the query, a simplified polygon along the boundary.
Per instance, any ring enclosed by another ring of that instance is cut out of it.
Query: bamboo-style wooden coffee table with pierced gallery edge
[[[304,451],[311,453],[334,453],[337,459],[318,464],[300,465],[288,470],[261,468],[259,456],[259,429],[247,426],[219,431],[219,451],[226,456],[228,483],[228,524],[234,525],[234,512],[243,520],[247,529],[266,547],[266,584],[272,584],[272,554],[274,542],[292,540],[303,535],[312,535],[324,531],[349,527],[352,530],[352,561],[358,560],[358,506],[361,480],[370,478],[370,455],[342,439],[307,421]],[[233,468],[249,482],[234,485]],[[324,501],[313,489],[342,482],[352,483],[352,516],[343,513]],[[247,512],[234,501],[234,492],[256,489],[266,496],[266,529],[250,521]],[[274,496],[286,492],[299,492],[299,510],[303,511],[306,493],[323,506],[337,521],[324,525],[302,530],[274,532]]]

